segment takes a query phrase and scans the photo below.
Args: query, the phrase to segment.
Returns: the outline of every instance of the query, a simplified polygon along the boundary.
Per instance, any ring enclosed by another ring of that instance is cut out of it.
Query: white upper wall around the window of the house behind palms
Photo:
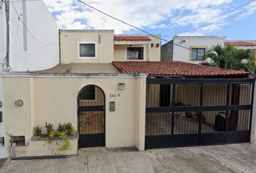
[[[183,42],[183,40],[185,42]],[[225,37],[200,37],[200,36],[176,36],[174,37],[174,44],[178,44],[187,48],[191,47],[207,47],[208,49],[213,45],[223,45]],[[191,61],[191,51],[186,48],[181,48],[174,45],[173,61],[183,61],[187,63],[201,63],[202,61]],[[206,48],[206,49],[207,49]],[[207,51],[207,50],[206,50]]]

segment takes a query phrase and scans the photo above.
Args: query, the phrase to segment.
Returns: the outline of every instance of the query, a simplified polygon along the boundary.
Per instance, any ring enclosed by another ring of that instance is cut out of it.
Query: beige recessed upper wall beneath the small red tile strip
[[[156,36],[161,37],[161,35]],[[143,47],[143,61],[160,61],[161,40],[153,36],[148,37],[150,37],[150,41],[114,41],[114,61],[127,61],[127,48],[129,47]]]

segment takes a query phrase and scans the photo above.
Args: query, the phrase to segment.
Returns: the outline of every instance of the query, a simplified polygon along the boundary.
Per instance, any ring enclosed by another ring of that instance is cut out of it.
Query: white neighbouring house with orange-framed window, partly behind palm
[[[201,63],[202,55],[214,45],[224,45],[226,37],[218,36],[174,36],[161,47],[161,61],[183,61]]]

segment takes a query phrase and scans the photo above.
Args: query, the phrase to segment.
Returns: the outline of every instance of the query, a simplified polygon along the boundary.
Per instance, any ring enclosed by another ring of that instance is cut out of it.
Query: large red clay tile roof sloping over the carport
[[[123,74],[148,74],[150,76],[183,77],[247,77],[244,71],[227,70],[211,66],[184,63],[180,61],[114,61],[114,66]]]

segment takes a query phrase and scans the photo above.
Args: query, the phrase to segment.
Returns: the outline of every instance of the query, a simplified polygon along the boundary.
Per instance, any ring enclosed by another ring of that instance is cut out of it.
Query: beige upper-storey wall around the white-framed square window
[[[79,43],[95,43],[95,57],[79,58]],[[61,63],[111,63],[114,30],[61,30]]]

